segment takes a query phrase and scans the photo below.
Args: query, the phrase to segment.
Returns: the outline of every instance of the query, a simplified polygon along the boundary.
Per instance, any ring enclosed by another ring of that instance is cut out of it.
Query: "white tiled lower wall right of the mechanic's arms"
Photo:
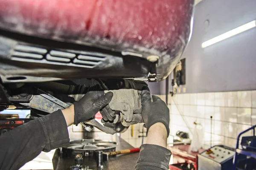
[[[192,131],[195,128],[193,122],[200,123],[204,129],[204,147],[210,146],[211,128],[213,145],[236,147],[238,134],[256,125],[256,91],[177,94],[175,99],[189,127],[186,127],[172,102],[170,134],[175,135],[178,130],[189,133],[188,128]],[[212,126],[210,116],[213,117]]]

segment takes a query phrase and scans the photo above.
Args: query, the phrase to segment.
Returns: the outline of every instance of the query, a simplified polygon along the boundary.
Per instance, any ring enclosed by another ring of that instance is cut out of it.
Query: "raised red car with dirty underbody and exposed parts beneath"
[[[1,109],[31,108],[38,117],[95,88],[138,101],[134,79],[162,81],[179,62],[194,0],[0,0],[0,6]],[[131,110],[114,122],[92,119],[84,127],[123,132],[141,121],[133,114],[136,102],[127,105]]]

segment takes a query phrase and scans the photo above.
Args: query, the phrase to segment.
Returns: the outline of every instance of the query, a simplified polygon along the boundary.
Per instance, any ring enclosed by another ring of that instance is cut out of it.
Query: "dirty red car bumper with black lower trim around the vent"
[[[163,80],[189,42],[193,8],[194,0],[0,0],[0,46],[6,50],[0,53],[5,65],[0,65],[0,76],[3,82],[17,76],[26,79],[15,82],[31,82],[33,78],[149,78],[150,74],[155,74],[156,81]],[[10,62],[13,47],[19,43],[48,51],[99,49],[102,54],[116,52],[122,61],[102,62],[93,69]],[[155,66],[147,60],[152,55],[159,57]]]

